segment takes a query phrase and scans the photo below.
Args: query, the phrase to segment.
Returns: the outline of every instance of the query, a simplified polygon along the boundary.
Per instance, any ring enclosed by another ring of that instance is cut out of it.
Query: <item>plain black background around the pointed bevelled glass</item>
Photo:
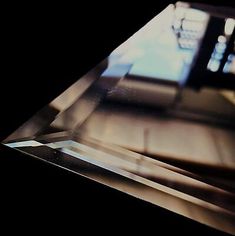
[[[12,3],[2,8],[1,140],[173,1],[58,2]],[[216,5],[233,6],[232,1]],[[5,226],[8,232],[31,233],[73,229],[81,235],[134,234],[139,230],[154,235],[222,235],[2,145],[0,148],[0,230]]]

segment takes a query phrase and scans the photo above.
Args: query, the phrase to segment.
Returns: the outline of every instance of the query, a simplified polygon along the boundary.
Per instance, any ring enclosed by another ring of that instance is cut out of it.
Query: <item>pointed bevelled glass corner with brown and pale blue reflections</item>
[[[170,5],[4,143],[234,234],[235,78],[205,51],[212,29],[231,49],[226,19]]]

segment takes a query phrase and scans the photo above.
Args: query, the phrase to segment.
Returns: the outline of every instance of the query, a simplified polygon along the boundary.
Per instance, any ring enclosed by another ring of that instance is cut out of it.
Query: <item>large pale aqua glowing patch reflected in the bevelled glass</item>
[[[130,74],[170,81],[182,79],[184,50],[178,46],[171,30],[164,32],[154,44],[145,44],[144,55],[135,61]],[[152,47],[151,47],[152,46]],[[193,51],[190,52],[193,54]]]

